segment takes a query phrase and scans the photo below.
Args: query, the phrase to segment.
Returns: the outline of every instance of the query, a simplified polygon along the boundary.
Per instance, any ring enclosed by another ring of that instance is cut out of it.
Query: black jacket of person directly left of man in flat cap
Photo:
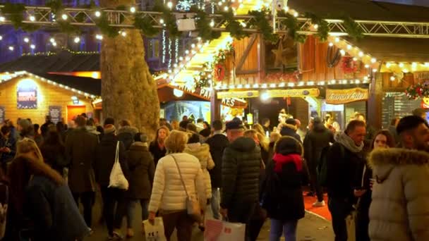
[[[214,161],[214,168],[209,170],[212,189],[222,187],[222,156],[224,155],[225,148],[229,145],[228,138],[225,135],[217,134],[207,139],[205,143],[209,144],[210,154]]]

